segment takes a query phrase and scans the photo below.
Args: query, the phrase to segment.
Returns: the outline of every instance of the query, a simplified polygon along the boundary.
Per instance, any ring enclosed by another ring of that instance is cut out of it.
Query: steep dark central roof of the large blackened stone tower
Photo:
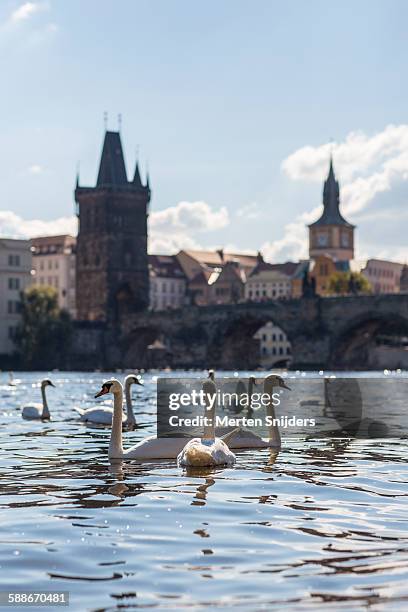
[[[124,187],[127,185],[125,159],[119,132],[105,132],[97,187]]]

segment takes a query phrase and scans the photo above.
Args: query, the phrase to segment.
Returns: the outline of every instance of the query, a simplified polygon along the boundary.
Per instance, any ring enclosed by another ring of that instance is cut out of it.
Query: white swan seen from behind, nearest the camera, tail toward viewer
[[[190,440],[177,457],[177,464],[183,467],[234,465],[236,461],[234,453],[230,451],[225,442],[215,437],[215,402],[211,403],[210,398],[215,396],[217,387],[211,374],[210,371],[209,378],[203,384],[207,406],[204,434],[202,438]]]

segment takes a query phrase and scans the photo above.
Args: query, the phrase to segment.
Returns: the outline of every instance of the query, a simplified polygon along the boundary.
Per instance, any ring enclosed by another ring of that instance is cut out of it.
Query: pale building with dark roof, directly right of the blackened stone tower
[[[174,255],[149,255],[150,309],[186,305],[187,278]]]

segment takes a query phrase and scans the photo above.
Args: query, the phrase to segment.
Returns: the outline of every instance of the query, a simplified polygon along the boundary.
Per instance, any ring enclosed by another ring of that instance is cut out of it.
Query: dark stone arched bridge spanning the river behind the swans
[[[379,334],[408,336],[408,294],[190,306],[131,315],[121,325],[112,355],[115,364],[126,368],[251,369],[259,365],[259,341],[253,335],[268,321],[291,342],[294,368],[369,369]]]

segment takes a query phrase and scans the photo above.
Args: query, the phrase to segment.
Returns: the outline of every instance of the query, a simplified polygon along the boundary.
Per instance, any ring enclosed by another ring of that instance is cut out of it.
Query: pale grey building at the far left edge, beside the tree
[[[0,238],[0,355],[10,355],[20,323],[20,294],[31,283],[29,240]]]

